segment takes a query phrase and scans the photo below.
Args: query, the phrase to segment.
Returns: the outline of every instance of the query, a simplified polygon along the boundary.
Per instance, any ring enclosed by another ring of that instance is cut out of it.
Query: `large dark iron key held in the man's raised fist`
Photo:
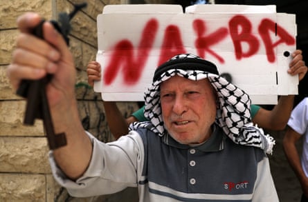
[[[51,20],[53,27],[62,34],[62,37],[65,39],[66,44],[69,46],[69,31],[71,30],[71,26],[69,21],[73,18],[73,16],[87,6],[87,3],[81,3],[78,5],[74,5],[74,10],[70,13],[61,12],[59,14],[58,22]],[[44,19],[33,29],[33,34],[40,39],[44,39],[42,26],[45,22]],[[48,74],[46,77],[39,80],[23,80],[21,81],[21,85],[17,89],[17,94],[21,97],[25,97],[27,99],[26,105],[26,113],[24,117],[24,124],[33,125],[35,119],[42,119],[44,122],[44,129],[46,131],[46,137],[48,140],[48,146],[51,150],[55,150],[56,148],[60,148],[66,145],[66,137],[65,133],[62,132],[60,134],[55,134],[53,128],[53,121],[51,119],[51,112],[49,110],[48,100],[46,97],[46,85],[50,81],[53,75]]]

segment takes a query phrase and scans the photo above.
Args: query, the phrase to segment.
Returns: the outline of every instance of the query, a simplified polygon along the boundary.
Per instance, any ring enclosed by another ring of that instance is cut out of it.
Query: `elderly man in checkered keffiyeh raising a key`
[[[51,26],[18,19],[21,34],[8,77],[53,74],[46,95],[55,132],[67,145],[50,154],[55,179],[73,196],[110,194],[138,186],[140,201],[278,201],[266,152],[273,139],[251,123],[248,95],[219,77],[213,63],[181,54],[157,68],[145,93],[145,116],[118,141],[85,132],[75,100],[73,57]]]

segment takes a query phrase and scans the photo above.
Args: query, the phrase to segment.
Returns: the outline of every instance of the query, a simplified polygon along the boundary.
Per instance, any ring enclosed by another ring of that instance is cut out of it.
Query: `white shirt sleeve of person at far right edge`
[[[298,132],[304,134],[307,130],[308,124],[308,98],[303,99],[296,108],[291,112],[291,116],[288,121],[289,127]]]

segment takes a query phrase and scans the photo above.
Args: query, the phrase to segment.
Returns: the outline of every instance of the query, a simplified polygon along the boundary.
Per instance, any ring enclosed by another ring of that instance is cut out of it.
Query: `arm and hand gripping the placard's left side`
[[[87,65],[88,83],[93,87],[94,81],[100,81],[100,63],[90,61]],[[110,132],[115,139],[128,133],[128,125],[138,121],[135,117],[130,116],[125,119],[114,101],[102,101],[104,105],[106,119]]]

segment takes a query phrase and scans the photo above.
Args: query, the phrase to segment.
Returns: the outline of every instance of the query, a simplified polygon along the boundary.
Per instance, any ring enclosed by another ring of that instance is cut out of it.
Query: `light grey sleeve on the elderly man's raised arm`
[[[87,171],[72,181],[60,170],[49,154],[55,180],[72,196],[87,197],[113,194],[127,187],[136,187],[138,172],[143,166],[143,142],[136,132],[130,132],[118,141],[102,143],[91,134],[93,152]]]

